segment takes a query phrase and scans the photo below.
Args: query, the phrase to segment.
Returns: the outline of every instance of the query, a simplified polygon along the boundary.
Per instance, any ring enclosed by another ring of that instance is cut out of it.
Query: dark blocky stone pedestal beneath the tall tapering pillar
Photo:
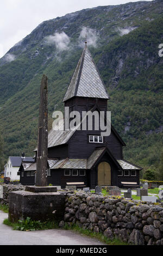
[[[31,186],[26,187],[26,190],[9,193],[9,220],[11,222],[25,220],[27,217],[41,222],[63,219],[65,211],[64,194],[52,192],[55,190],[54,187]]]

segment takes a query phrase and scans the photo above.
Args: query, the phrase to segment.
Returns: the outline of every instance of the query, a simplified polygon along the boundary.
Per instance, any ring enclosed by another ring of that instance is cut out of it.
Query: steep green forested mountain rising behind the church
[[[74,68],[87,46],[111,99],[111,121],[127,147],[124,159],[159,166],[163,150],[163,88],[159,44],[162,1],[97,7],[41,23],[0,59],[0,120],[4,160],[33,155],[39,87],[48,76],[49,129]]]

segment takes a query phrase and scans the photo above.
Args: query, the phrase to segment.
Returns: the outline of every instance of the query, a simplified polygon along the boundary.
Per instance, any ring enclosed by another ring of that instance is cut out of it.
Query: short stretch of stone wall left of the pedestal
[[[3,198],[0,198],[0,204],[9,204],[9,193],[12,191],[20,191],[20,190],[25,190],[26,186],[22,185],[12,185],[12,184],[2,184],[1,185],[3,188]]]

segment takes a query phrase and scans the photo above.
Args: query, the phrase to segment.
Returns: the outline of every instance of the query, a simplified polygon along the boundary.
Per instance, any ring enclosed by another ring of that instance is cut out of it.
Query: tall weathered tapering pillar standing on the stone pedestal
[[[36,186],[47,186],[48,153],[48,78],[42,76],[40,87],[39,127],[37,139]]]

